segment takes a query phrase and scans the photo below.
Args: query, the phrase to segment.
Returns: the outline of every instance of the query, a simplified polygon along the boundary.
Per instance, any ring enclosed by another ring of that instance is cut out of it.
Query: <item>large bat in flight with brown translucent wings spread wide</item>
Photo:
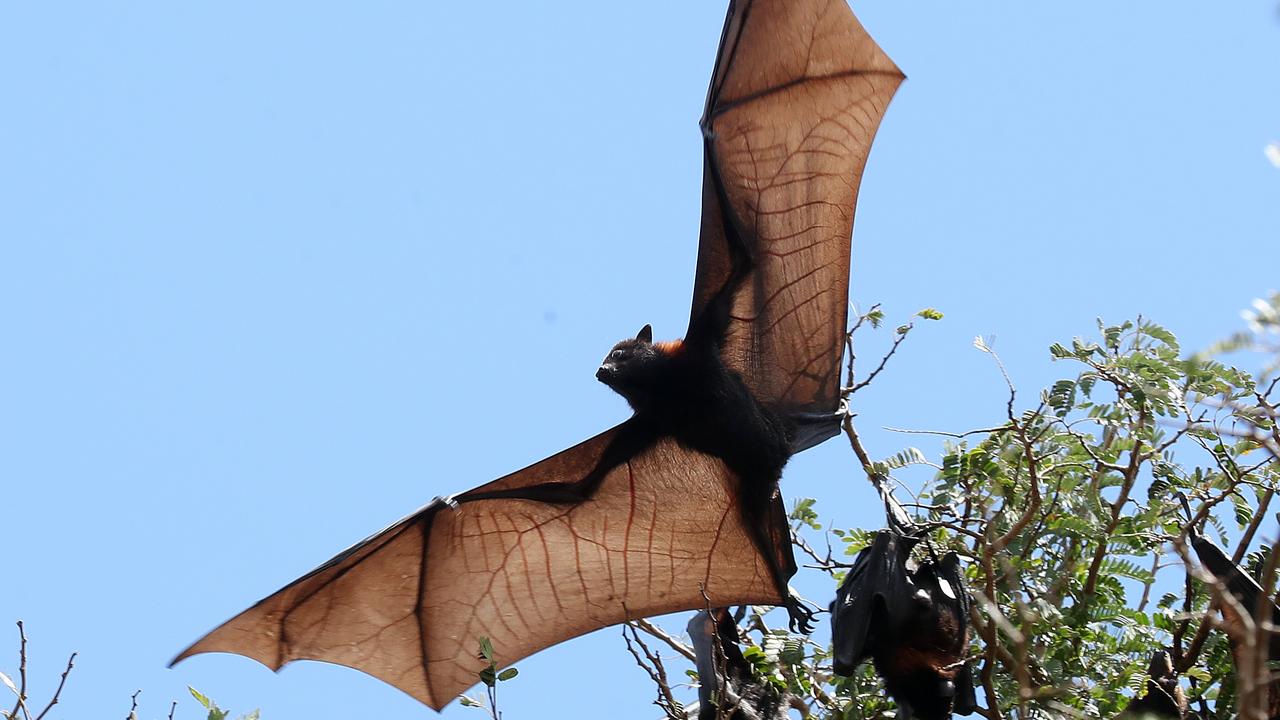
[[[732,1],[701,118],[689,328],[655,343],[646,325],[596,373],[631,418],[433,501],[174,662],[323,660],[439,710],[476,683],[481,635],[508,665],[708,602],[806,626],[778,478],[838,432],[854,206],[901,81],[845,0]]]

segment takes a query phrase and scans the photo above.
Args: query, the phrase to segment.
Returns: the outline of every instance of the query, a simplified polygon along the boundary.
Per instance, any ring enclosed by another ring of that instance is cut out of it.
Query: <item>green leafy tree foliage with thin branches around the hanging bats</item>
[[[882,318],[873,307],[854,329]],[[1158,648],[1171,652],[1192,708],[1206,720],[1261,716],[1266,693],[1236,692],[1244,685],[1211,607],[1219,591],[1189,562],[1179,502],[1185,497],[1192,516],[1207,521],[1206,534],[1244,565],[1274,570],[1258,532],[1280,484],[1280,347],[1272,342],[1280,295],[1256,302],[1245,319],[1251,332],[1202,355],[1184,354],[1170,331],[1147,319],[1100,322],[1096,336],[1051,346],[1066,370],[1061,379],[1032,404],[1019,402],[1010,383],[998,425],[950,436],[937,462],[914,447],[873,461],[846,421],[868,477],[938,468],[911,507],[937,547],[968,560],[970,659],[984,716],[1112,717],[1146,692]],[[910,329],[897,328],[886,360]],[[992,352],[980,338],[974,345]],[[1220,360],[1242,351],[1271,363],[1253,377]],[[883,368],[855,382],[850,361],[846,392]],[[799,547],[836,580],[841,560],[851,561],[877,529],[823,528],[809,498],[795,503],[792,524]],[[804,536],[815,530],[838,557],[813,551],[819,543]],[[828,647],[771,629],[759,612],[742,626],[758,679],[786,691],[809,716],[893,716],[868,666],[837,678]]]

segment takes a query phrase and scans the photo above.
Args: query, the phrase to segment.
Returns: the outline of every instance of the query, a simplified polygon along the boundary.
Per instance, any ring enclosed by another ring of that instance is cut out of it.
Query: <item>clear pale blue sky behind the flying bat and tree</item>
[[[143,717],[195,717],[187,684],[268,720],[426,716],[340,667],[164,666],[433,496],[625,416],[593,373],[643,323],[684,332],[723,5],[0,5],[0,669],[22,618],[37,698],[81,653],[54,716],[142,688]],[[1029,398],[1098,315],[1197,347],[1280,283],[1270,0],[855,10],[909,79],[854,300],[946,313],[858,397],[876,455],[936,450],[879,427],[998,421],[975,334]],[[838,441],[783,492],[879,523]],[[658,715],[616,629],[520,666],[509,720]]]

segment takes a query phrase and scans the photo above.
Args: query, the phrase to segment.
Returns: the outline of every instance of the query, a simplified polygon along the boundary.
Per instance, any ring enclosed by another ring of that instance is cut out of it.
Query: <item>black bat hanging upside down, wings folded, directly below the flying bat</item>
[[[916,564],[911,550],[924,536],[887,491],[882,496],[888,528],[858,553],[831,605],[833,669],[851,675],[870,659],[904,720],[970,715],[978,698],[964,661],[969,593],[960,560],[932,557],[931,548]]]

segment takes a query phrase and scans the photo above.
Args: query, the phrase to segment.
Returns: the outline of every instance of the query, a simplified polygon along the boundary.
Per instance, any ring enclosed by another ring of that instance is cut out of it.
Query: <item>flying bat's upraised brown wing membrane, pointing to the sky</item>
[[[783,411],[837,406],[858,186],[901,81],[845,0],[730,8],[703,117],[691,327],[745,258],[722,355]]]

